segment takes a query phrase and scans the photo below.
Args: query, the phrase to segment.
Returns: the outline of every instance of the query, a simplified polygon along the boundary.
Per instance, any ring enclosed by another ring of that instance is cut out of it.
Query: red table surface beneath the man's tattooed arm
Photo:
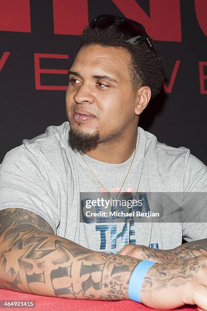
[[[0,300],[34,300],[34,308],[12,308],[16,310],[73,310],[73,311],[112,311],[112,310],[154,310],[148,308],[138,302],[131,300],[120,300],[120,301],[98,301],[98,300],[82,300],[82,299],[65,299],[65,298],[55,298],[55,297],[44,297],[38,295],[18,293],[14,291],[8,291],[0,289]],[[10,308],[0,308],[0,310],[9,310]],[[184,306],[180,307],[179,310],[193,310],[196,309],[195,306]],[[157,310],[157,309],[156,309]]]

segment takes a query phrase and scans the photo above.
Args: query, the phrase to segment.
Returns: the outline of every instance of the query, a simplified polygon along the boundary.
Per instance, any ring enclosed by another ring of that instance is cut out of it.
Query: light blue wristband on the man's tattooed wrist
[[[141,303],[141,287],[147,274],[147,271],[154,265],[156,262],[144,260],[141,261],[133,270],[130,281],[128,294],[131,300]]]

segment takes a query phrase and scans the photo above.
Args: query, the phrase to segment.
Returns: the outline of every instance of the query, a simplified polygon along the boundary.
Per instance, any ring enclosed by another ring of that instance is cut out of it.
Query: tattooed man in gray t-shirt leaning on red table
[[[206,224],[135,223],[133,217],[116,223],[85,213],[91,192],[115,191],[112,199],[123,191],[206,192],[207,168],[187,148],[166,146],[137,130],[162,83],[161,59],[144,27],[119,17],[96,18],[81,37],[69,80],[69,123],[23,140],[1,165],[0,287],[207,309]],[[81,202],[80,193],[87,193]],[[189,203],[187,197],[183,202]],[[146,211],[152,209],[148,199],[142,201]],[[198,214],[201,207],[196,205]],[[188,243],[181,245],[182,237]],[[150,269],[139,268],[145,260]]]

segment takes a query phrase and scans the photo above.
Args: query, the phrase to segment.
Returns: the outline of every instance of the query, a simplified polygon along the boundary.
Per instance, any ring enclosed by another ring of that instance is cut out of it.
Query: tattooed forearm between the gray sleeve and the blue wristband
[[[56,236],[39,215],[0,211],[0,287],[73,299],[129,299],[132,257],[93,252]]]

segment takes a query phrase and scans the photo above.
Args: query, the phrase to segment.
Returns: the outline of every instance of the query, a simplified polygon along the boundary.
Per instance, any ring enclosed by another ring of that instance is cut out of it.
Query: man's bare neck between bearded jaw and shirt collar
[[[122,137],[110,143],[100,143],[95,150],[87,151],[85,154],[101,162],[111,164],[123,163],[131,157],[137,139],[137,129],[135,129],[130,137]]]

